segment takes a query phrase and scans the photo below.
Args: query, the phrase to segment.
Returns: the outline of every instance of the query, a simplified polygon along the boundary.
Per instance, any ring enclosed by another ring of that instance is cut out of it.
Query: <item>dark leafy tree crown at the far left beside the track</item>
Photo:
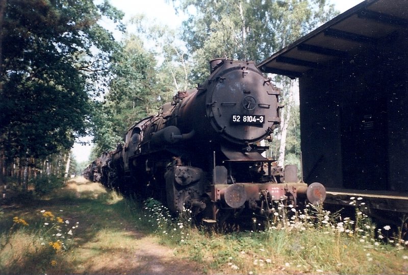
[[[118,51],[99,26],[122,13],[107,1],[8,0],[1,24],[2,163],[45,158],[87,133],[91,102],[105,90]],[[1,9],[0,9],[1,10]],[[3,169],[2,169],[3,170]]]

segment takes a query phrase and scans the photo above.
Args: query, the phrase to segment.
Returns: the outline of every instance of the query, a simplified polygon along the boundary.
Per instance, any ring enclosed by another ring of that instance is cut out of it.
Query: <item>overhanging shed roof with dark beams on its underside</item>
[[[264,72],[299,78],[350,60],[378,44],[408,37],[408,1],[366,0],[258,64]]]

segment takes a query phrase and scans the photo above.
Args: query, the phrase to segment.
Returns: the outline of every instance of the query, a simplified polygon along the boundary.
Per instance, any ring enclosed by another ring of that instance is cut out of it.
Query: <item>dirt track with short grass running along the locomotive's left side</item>
[[[8,190],[7,201],[0,201],[0,210],[8,218],[22,216],[40,218],[41,210],[51,211],[71,223],[79,222],[74,230],[75,244],[61,268],[48,273],[65,274],[149,274],[198,275],[204,272],[196,262],[176,255],[176,251],[161,245],[160,239],[147,234],[143,225],[129,219],[129,214],[118,213],[123,207],[106,203],[103,186],[79,177],[69,181],[62,192],[70,195],[49,199],[34,199],[21,203]],[[99,198],[99,199],[98,199]],[[1,273],[1,272],[0,272]]]

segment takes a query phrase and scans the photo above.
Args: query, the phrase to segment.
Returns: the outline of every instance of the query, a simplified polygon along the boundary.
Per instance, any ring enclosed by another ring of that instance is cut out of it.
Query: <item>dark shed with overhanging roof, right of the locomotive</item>
[[[303,180],[408,191],[408,1],[366,0],[258,66],[299,78]]]

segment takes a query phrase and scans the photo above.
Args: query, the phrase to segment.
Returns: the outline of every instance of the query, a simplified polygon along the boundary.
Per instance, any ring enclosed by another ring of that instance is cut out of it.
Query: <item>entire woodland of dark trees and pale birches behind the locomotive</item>
[[[202,83],[209,60],[260,62],[339,14],[326,0],[166,3],[185,18],[177,30],[143,14],[124,22],[106,0],[0,0],[0,184],[79,173],[88,163],[73,157],[75,140],[92,137],[88,161],[111,151]],[[269,77],[286,107],[268,157],[299,165],[296,83]]]

